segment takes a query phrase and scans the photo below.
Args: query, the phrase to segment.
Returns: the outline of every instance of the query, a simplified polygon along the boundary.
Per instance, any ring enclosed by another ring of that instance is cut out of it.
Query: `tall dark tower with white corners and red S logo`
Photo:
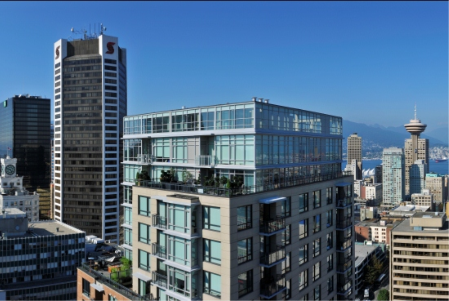
[[[118,242],[126,49],[102,31],[60,39],[54,76],[55,219]]]

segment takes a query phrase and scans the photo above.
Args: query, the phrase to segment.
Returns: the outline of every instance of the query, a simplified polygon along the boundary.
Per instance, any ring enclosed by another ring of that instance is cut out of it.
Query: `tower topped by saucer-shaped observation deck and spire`
[[[411,195],[410,191],[410,171],[412,165],[416,160],[424,160],[426,169],[424,174],[429,173],[429,139],[420,138],[420,134],[424,132],[427,125],[421,123],[421,120],[416,117],[415,106],[415,118],[410,120],[410,123],[405,124],[406,130],[412,134],[412,137],[406,139],[405,142],[405,194]]]

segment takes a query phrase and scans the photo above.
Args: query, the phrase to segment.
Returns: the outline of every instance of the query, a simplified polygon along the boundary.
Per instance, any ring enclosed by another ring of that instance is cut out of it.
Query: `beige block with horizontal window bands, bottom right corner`
[[[449,223],[417,212],[391,231],[390,300],[449,300]]]

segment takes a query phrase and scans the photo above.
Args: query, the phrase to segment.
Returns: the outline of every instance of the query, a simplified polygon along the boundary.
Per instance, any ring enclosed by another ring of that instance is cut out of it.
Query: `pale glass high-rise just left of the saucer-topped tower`
[[[404,200],[404,151],[385,148],[382,154],[383,206],[394,207]]]

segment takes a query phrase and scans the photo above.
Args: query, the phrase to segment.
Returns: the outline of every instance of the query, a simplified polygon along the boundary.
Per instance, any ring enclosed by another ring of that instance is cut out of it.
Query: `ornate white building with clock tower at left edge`
[[[23,187],[23,177],[15,173],[17,159],[1,158],[0,208],[16,208],[26,213],[29,222],[39,221],[39,194]]]

